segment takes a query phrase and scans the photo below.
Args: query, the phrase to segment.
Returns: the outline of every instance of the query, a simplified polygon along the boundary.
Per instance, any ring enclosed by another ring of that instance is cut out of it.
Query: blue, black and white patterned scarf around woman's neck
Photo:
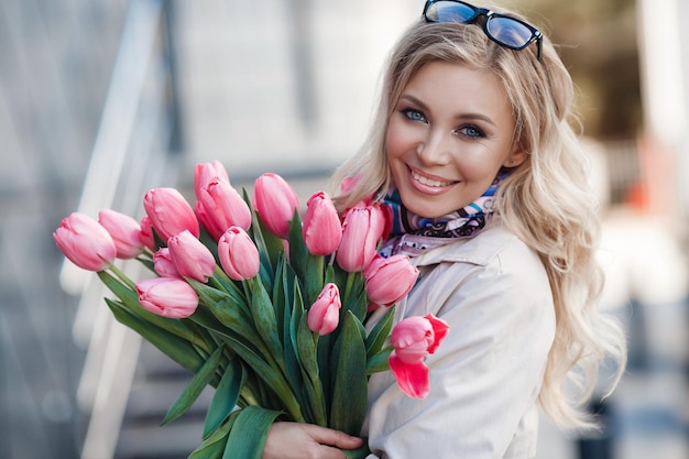
[[[397,189],[392,188],[383,200],[391,209],[392,231],[383,242],[381,254],[416,256],[429,249],[455,242],[458,238],[478,234],[492,216],[495,190],[506,175],[501,172],[480,198],[438,218],[426,218],[411,212],[402,204]]]

